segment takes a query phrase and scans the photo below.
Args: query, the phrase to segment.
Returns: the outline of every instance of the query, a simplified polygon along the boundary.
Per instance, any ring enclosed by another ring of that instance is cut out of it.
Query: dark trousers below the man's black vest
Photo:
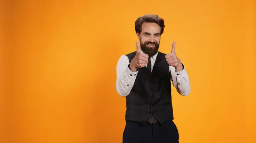
[[[173,121],[161,124],[126,121],[122,143],[179,143],[179,133]]]

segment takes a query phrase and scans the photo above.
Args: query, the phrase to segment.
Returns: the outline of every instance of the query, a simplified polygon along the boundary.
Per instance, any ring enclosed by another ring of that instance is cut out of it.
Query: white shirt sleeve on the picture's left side
[[[116,65],[116,91],[121,96],[127,96],[131,92],[138,73],[138,69],[132,72],[129,64],[128,57],[122,55]]]

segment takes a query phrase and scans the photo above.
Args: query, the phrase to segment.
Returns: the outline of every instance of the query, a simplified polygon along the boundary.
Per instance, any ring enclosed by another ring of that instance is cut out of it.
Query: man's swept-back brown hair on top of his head
[[[142,17],[138,17],[137,20],[135,21],[136,33],[140,34],[141,26],[144,22],[157,23],[157,25],[159,25],[161,28],[160,35],[163,34],[163,29],[165,27],[164,20],[163,20],[163,18],[160,18],[160,17],[158,17],[158,15],[155,15],[155,14],[146,14],[146,15],[143,15]]]

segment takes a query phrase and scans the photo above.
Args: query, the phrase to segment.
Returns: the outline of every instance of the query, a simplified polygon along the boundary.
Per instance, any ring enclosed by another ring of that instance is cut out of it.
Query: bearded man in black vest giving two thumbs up
[[[144,15],[135,21],[137,50],[122,55],[116,67],[116,91],[126,97],[123,143],[179,143],[173,122],[171,81],[180,95],[190,93],[184,65],[175,53],[158,51],[164,20]]]

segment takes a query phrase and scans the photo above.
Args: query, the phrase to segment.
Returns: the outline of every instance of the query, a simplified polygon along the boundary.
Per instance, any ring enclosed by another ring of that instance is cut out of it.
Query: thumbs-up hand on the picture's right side
[[[175,53],[175,45],[176,45],[176,42],[173,42],[172,43],[172,51],[171,51],[171,53],[166,54],[165,58],[166,58],[166,62],[170,66],[175,67],[175,69],[177,71],[181,71],[181,70],[183,70],[183,66],[181,64],[180,58],[178,58]]]

